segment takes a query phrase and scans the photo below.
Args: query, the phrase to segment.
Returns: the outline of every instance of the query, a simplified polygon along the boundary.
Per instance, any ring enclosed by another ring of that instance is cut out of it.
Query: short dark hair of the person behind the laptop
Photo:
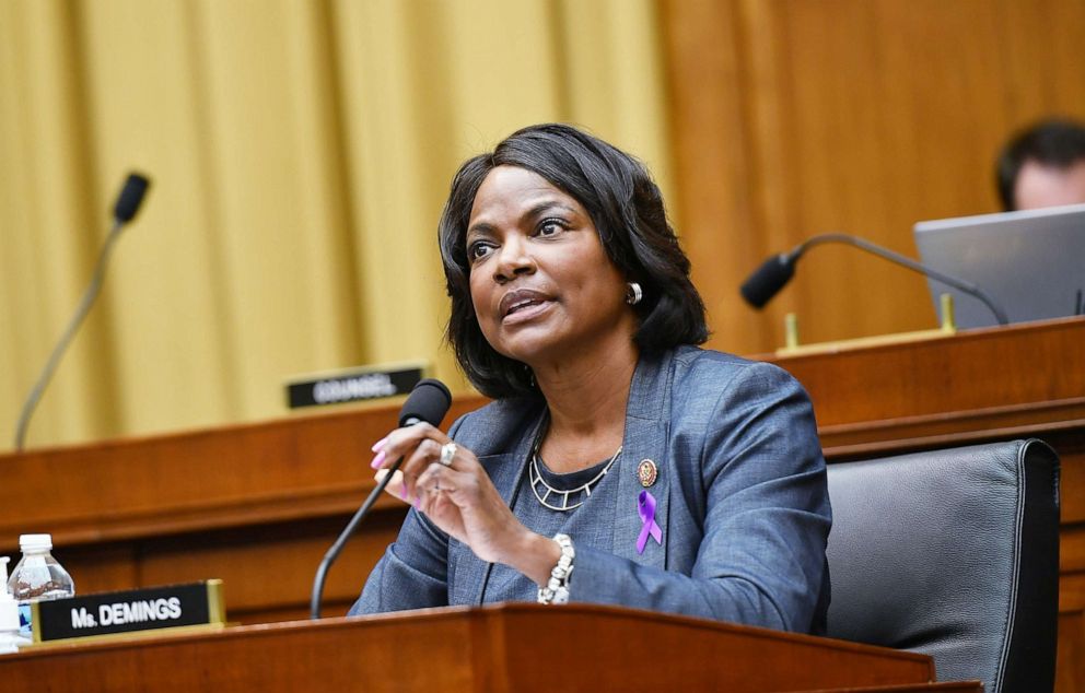
[[[1069,168],[1085,160],[1085,127],[1072,120],[1041,120],[1017,132],[1003,148],[995,166],[995,181],[1002,208],[1017,209],[1014,190],[1025,162]]]

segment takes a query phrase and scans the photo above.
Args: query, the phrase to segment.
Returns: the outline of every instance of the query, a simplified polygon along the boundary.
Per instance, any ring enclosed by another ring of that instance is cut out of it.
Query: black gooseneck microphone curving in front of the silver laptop
[[[790,252],[781,252],[780,255],[769,258],[761,263],[761,267],[757,268],[748,278],[746,278],[745,282],[743,282],[743,285],[738,290],[739,293],[742,293],[743,298],[745,298],[746,303],[755,308],[762,308],[765,304],[775,296],[780,290],[783,289],[789,281],[791,281],[791,278],[794,277],[795,263],[798,262],[798,258],[803,257],[803,255],[814,246],[825,243],[842,243],[854,246],[861,250],[876,255],[879,258],[889,260],[890,262],[901,267],[906,267],[913,272],[919,272],[920,274],[936,279],[943,284],[953,286],[958,291],[962,291],[966,294],[982,301],[983,304],[991,309],[991,313],[994,314],[995,319],[999,320],[999,325],[1008,325],[1010,322],[1006,318],[1006,312],[1003,310],[993,298],[991,298],[976,284],[966,282],[962,279],[949,277],[948,274],[944,274],[936,269],[917,262],[911,258],[894,252],[888,248],[883,248],[882,246],[875,245],[870,240],[864,240],[848,234],[819,234],[798,244]]]

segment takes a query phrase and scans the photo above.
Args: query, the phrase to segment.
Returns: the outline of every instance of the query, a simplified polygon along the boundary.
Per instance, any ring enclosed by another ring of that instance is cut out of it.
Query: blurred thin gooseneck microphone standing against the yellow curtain
[[[138,173],[128,174],[128,179],[125,180],[125,187],[121,188],[120,195],[117,196],[117,203],[113,208],[113,228],[109,231],[109,235],[106,237],[105,243],[102,244],[102,250],[98,252],[97,262],[94,266],[94,272],[91,275],[91,283],[86,287],[86,292],[83,293],[82,299],[79,302],[79,307],[75,309],[75,315],[72,316],[71,320],[68,322],[68,327],[65,328],[63,334],[60,337],[60,341],[52,349],[52,353],[49,355],[49,360],[45,364],[45,368],[42,371],[42,375],[38,376],[37,381],[31,389],[30,396],[27,396],[26,401],[23,403],[22,412],[19,414],[19,424],[15,426],[15,451],[23,451],[23,444],[26,441],[26,428],[31,423],[31,415],[34,413],[34,409],[37,407],[38,400],[42,399],[42,395],[45,392],[46,386],[48,386],[49,380],[52,379],[52,374],[56,372],[57,366],[60,364],[60,357],[63,356],[65,351],[71,343],[72,339],[75,337],[75,332],[79,330],[79,326],[82,325],[83,318],[90,313],[91,306],[94,305],[94,299],[97,298],[98,291],[102,289],[102,281],[105,278],[105,270],[109,262],[109,256],[113,252],[113,244],[117,240],[120,235],[120,230],[124,228],[125,224],[130,222],[136,218],[136,213],[139,211],[140,204],[143,202],[143,197],[147,195],[147,189],[151,185],[151,181]]]

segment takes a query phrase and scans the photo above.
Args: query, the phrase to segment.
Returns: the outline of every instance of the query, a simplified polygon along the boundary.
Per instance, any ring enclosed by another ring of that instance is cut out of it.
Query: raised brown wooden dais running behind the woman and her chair
[[[767,357],[809,390],[829,461],[1014,437],[1062,457],[1059,690],[1085,691],[1085,318],[831,355]],[[446,420],[477,408],[458,399]],[[373,482],[398,403],[0,456],[0,552],[51,531],[80,591],[220,577],[244,623],[307,614],[313,573]],[[332,568],[346,613],[393,540],[382,500]],[[1068,683],[1070,682],[1070,683]]]

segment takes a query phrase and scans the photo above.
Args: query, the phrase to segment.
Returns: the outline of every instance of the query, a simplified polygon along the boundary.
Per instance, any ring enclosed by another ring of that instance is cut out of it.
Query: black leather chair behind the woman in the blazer
[[[934,657],[938,681],[1050,691],[1059,458],[1015,441],[829,465],[830,637]]]

